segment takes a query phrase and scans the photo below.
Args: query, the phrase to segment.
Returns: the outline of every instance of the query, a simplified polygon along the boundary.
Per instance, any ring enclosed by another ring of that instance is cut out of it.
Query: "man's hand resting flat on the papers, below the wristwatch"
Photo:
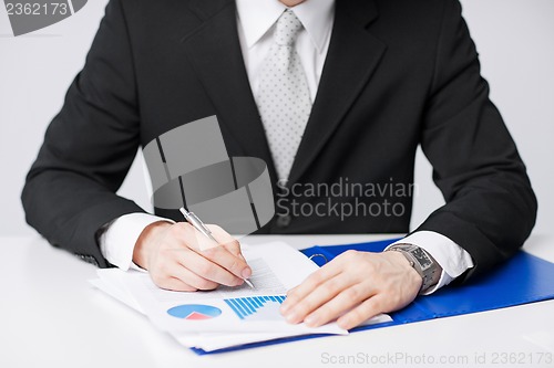
[[[287,293],[281,313],[310,327],[337,319],[350,329],[380,313],[410,304],[422,278],[399,252],[347,251]]]

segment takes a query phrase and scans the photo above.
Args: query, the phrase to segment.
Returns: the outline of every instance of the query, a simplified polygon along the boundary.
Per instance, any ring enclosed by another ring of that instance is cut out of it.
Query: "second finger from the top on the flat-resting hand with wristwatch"
[[[339,295],[343,290],[351,286],[351,280],[346,273],[340,273],[315,287],[304,298],[299,299],[294,307],[288,308],[284,316],[288,323],[297,324],[308,315],[315,313],[326,303]],[[288,296],[287,296],[288,299]]]

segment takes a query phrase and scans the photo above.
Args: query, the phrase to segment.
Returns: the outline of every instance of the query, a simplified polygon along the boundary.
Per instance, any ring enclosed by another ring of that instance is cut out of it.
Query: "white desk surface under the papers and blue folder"
[[[259,236],[248,243],[276,238]],[[318,235],[285,240],[301,248],[382,238],[387,236]],[[525,249],[554,262],[552,236],[532,236]],[[554,301],[346,337],[196,356],[157,332],[144,316],[90,286],[86,280],[95,276],[92,265],[39,238],[0,238],[0,260],[2,368],[423,367],[422,362],[431,359],[437,367],[554,367]],[[502,353],[513,353],[516,362],[501,364]],[[483,354],[488,364],[475,362],[475,357],[481,359]],[[331,361],[349,355],[360,360],[351,365]],[[439,364],[444,358],[462,359],[462,364]],[[499,364],[492,364],[493,358]],[[375,359],[381,359],[381,364]]]

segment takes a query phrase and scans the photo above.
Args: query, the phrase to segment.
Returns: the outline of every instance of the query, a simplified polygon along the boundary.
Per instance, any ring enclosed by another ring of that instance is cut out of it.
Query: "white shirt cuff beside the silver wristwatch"
[[[423,295],[429,295],[444,285],[450,284],[455,277],[473,267],[470,253],[454,243],[451,239],[434,231],[417,231],[404,239],[387,246],[399,243],[410,243],[425,250],[442,267],[441,278],[437,285],[429,287]],[[387,250],[386,249],[386,250]]]

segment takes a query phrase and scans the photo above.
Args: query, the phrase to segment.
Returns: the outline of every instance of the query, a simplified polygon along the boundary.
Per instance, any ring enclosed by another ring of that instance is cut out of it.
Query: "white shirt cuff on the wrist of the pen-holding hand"
[[[100,235],[100,251],[111,264],[123,271],[129,269],[144,271],[133,263],[133,250],[143,230],[158,221],[173,222],[150,213],[124,214],[107,224]]]

